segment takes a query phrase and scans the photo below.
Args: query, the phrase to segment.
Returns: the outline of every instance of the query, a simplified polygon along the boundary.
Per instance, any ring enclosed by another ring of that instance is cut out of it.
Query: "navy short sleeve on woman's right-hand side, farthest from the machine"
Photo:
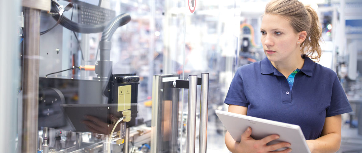
[[[335,80],[333,82],[331,103],[326,110],[325,117],[331,117],[348,112],[352,112],[351,105],[348,102],[347,96],[344,93],[338,77],[335,77]]]

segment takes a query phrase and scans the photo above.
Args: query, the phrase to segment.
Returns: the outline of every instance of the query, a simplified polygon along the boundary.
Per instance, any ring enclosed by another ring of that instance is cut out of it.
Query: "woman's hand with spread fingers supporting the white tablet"
[[[252,130],[250,127],[241,135],[240,143],[235,143],[235,150],[238,153],[289,153],[291,149],[272,152],[283,147],[290,147],[290,143],[281,142],[273,145],[266,145],[270,141],[279,139],[279,135],[273,134],[266,136],[263,139],[255,140],[250,135]]]

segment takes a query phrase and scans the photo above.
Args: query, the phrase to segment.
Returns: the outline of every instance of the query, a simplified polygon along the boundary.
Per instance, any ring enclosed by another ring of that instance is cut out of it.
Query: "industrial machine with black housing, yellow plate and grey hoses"
[[[24,78],[31,77],[34,80],[22,81],[29,82],[29,86],[33,86],[36,91],[31,90],[29,93],[28,83],[23,86],[24,90],[20,89],[24,95],[24,130],[22,139],[19,140],[21,152],[128,153],[150,150],[151,125],[148,123],[147,126],[143,117],[138,116],[140,77],[136,73],[113,74],[113,63],[110,60],[113,33],[118,27],[127,24],[131,17],[127,13],[116,15],[114,10],[102,4],[101,0],[41,0],[34,4],[24,2],[24,28],[20,31],[23,35],[24,29],[24,44],[21,45],[24,45],[22,54],[26,57],[22,66]],[[64,15],[67,11],[71,12],[71,16],[69,12],[68,16]],[[37,22],[40,19],[42,21]],[[50,28],[40,32],[39,23],[54,23],[54,26],[48,26]],[[30,27],[38,28],[40,33]],[[83,54],[87,54],[87,50],[81,50],[79,33],[99,32],[102,32],[97,48],[100,59],[95,58],[97,61],[93,64],[88,62],[90,65],[77,66],[82,63],[78,59],[81,57],[85,61]],[[42,38],[39,38],[39,34]],[[54,35],[71,39],[64,40],[63,43],[50,40]],[[40,47],[41,53],[35,53],[34,56],[43,58],[40,60],[41,65],[39,62],[29,64],[28,54],[37,50],[29,49],[29,42],[38,49]],[[72,49],[72,42],[77,44],[75,51],[66,51],[64,44],[70,43],[68,49]],[[52,46],[56,46],[55,53],[48,51]],[[78,52],[78,47],[81,53]],[[66,53],[70,53],[70,56]],[[63,56],[59,57],[59,54]],[[59,63],[59,60],[62,62],[57,64],[56,61]],[[67,65],[71,68],[54,72],[61,68],[61,64],[63,68]],[[34,67],[37,67],[37,71],[30,74],[28,70]],[[43,68],[40,73],[39,67]],[[81,71],[92,72],[96,76],[89,73],[80,75]],[[44,76],[45,73],[47,75]],[[35,99],[37,102],[33,102]],[[32,118],[34,116],[37,118]],[[34,125],[37,129],[30,130]],[[34,131],[36,134],[31,133]],[[34,136],[38,141],[33,141]]]

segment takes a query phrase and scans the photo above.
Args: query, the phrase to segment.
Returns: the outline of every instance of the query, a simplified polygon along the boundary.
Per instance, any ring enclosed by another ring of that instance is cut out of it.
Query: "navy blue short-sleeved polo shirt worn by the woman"
[[[248,107],[248,116],[299,125],[306,140],[319,138],[326,117],[352,108],[337,74],[302,58],[292,86],[268,58],[240,67],[224,103]]]

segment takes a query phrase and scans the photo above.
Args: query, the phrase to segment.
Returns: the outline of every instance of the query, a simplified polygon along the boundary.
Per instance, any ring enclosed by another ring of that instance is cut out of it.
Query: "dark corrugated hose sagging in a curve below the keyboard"
[[[51,12],[52,13],[58,13],[59,10],[56,7],[56,5],[54,3],[51,3]],[[129,15],[128,15],[129,16]],[[58,21],[60,15],[54,15],[52,16],[56,21]],[[124,14],[118,15],[117,17],[115,17],[112,21],[114,21],[116,18],[119,20],[124,21],[125,19],[123,18],[119,18],[119,17],[125,17],[127,18]],[[131,20],[131,17],[128,17],[129,21]],[[62,17],[60,18],[60,25],[62,25],[63,27],[66,27],[67,29],[74,31],[74,32],[78,32],[78,33],[98,33],[98,32],[102,32],[104,31],[105,27],[108,25],[108,23],[110,22],[105,22],[105,23],[100,23],[100,24],[94,24],[94,25],[89,25],[89,24],[80,24],[80,23],[76,23],[71,21],[70,19],[66,18],[66,17]],[[128,22],[126,22],[128,23]],[[126,24],[124,23],[124,24]],[[119,24],[117,26],[123,26],[124,24]],[[113,33],[112,33],[113,35]]]

